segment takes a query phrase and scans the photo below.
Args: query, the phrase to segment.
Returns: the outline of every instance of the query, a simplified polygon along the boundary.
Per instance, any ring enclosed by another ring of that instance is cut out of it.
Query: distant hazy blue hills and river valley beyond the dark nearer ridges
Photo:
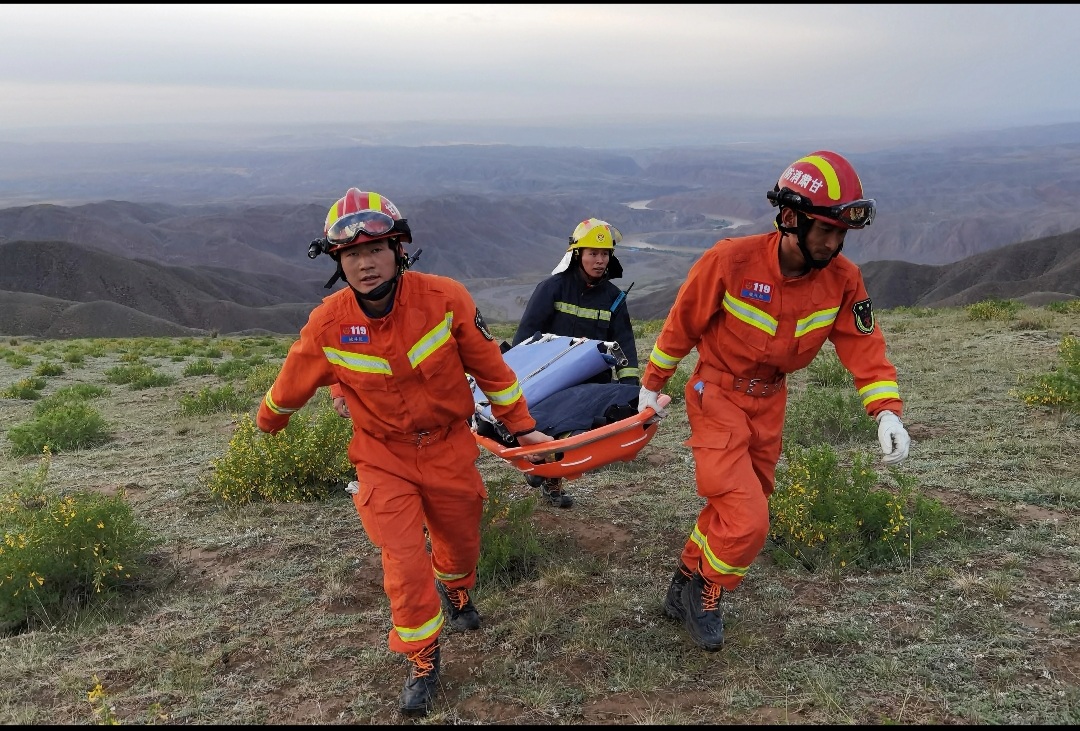
[[[588,216],[690,249],[767,230],[774,209],[765,192],[820,147],[847,154],[878,203],[874,225],[849,247],[859,263],[948,263],[1080,228],[1078,123],[873,144],[647,149],[379,146],[312,132],[273,144],[0,140],[0,205],[11,206],[0,209],[0,242],[70,241],[302,279],[326,208],[360,186],[405,212],[429,271],[516,277],[550,270],[551,247]],[[746,226],[733,230],[737,220]]]

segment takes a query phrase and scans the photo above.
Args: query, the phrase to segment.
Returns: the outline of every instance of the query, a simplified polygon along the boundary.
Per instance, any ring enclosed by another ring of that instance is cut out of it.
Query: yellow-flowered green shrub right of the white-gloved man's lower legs
[[[856,454],[847,470],[829,445],[786,447],[784,458],[769,500],[778,564],[810,571],[905,565],[960,528],[947,507],[916,493],[899,473],[897,489],[877,488],[865,455]]]

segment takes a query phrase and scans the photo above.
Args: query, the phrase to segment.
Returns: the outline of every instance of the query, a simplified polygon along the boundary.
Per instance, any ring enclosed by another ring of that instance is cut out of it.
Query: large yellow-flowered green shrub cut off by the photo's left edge
[[[55,625],[66,609],[107,600],[145,571],[159,541],[136,523],[123,492],[52,495],[50,455],[0,491],[0,622]]]

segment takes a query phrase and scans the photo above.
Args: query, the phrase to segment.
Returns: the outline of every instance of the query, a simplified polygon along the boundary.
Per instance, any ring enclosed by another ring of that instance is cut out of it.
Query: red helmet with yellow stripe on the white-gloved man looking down
[[[874,200],[863,198],[863,182],[855,168],[828,150],[793,162],[767,195],[772,205],[846,229],[861,229],[874,220]]]

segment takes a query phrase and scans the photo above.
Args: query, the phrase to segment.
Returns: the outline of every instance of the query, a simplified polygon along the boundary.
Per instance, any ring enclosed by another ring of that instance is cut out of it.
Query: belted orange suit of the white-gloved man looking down
[[[698,365],[686,410],[698,495],[706,504],[683,563],[735,588],[765,546],[787,400],[785,374],[805,368],[825,340],[854,378],[866,412],[903,414],[896,369],[874,321],[862,272],[837,256],[785,277],[780,232],[725,239],[690,268],[642,384],[659,392],[691,349]]]

